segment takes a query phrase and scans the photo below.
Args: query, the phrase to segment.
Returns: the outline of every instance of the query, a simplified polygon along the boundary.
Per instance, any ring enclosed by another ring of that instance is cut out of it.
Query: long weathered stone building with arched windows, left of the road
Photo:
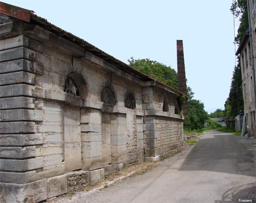
[[[1,202],[46,200],[182,147],[180,92],[0,6]]]

